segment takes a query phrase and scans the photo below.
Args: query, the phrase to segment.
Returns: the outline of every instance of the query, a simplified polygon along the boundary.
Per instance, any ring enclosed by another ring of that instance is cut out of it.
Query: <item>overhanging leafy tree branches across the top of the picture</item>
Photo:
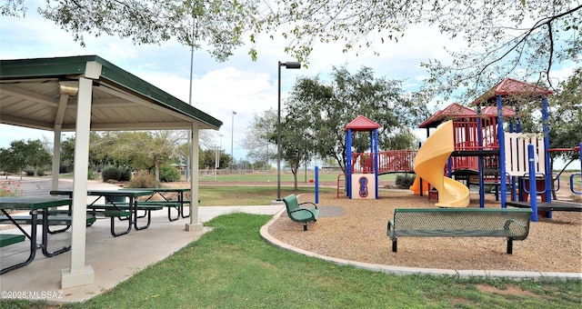
[[[5,0],[2,15],[25,15],[24,0]],[[260,34],[283,37],[285,50],[307,62],[316,43],[341,42],[356,55],[388,40],[396,41],[413,25],[437,27],[461,37],[466,49],[452,52],[453,63],[428,61],[427,89],[446,95],[464,88],[466,97],[487,90],[490,81],[513,75],[539,75],[551,86],[558,63],[579,62],[582,55],[582,5],[568,0],[76,0],[46,1],[38,12],[74,35],[119,35],[135,44],[176,39],[206,47],[218,60],[250,44],[256,59]]]

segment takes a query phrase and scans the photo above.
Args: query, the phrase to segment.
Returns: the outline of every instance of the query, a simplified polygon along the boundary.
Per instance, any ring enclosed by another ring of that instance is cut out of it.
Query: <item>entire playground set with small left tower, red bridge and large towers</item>
[[[433,186],[436,187],[437,192],[439,191],[438,194],[444,197],[443,201],[448,201],[451,199],[451,193],[444,193],[447,191],[447,187],[441,187],[438,190],[437,185],[440,184],[433,184],[439,183],[438,179],[443,174],[447,174],[448,177],[454,176],[459,181],[465,181],[467,187],[471,184],[477,184],[481,207],[484,207],[485,204],[485,185],[489,184],[495,186],[497,198],[500,199],[503,208],[507,204],[530,207],[531,204],[537,203],[537,199],[530,198],[531,203],[527,203],[528,195],[539,195],[543,204],[540,204],[537,210],[545,211],[548,217],[551,217],[553,210],[582,211],[582,205],[579,203],[553,203],[551,200],[552,174],[549,168],[548,153],[557,151],[549,149],[547,95],[551,94],[552,92],[547,89],[507,78],[472,103],[477,107],[477,110],[453,104],[432,115],[420,127],[426,128],[426,135],[430,138],[430,128],[437,128],[438,125],[452,120],[452,138],[445,138],[441,135],[439,141],[444,143],[452,140],[453,150],[446,160],[446,167],[444,167],[445,164],[439,164],[439,166],[443,166],[443,170],[437,168],[426,173],[426,171],[422,171],[423,167],[420,167],[422,172],[416,172],[415,184],[411,186],[411,190],[415,194],[422,195],[427,194],[428,189]],[[539,100],[542,103],[543,133],[537,135],[521,133],[518,116],[520,105]],[[504,126],[507,126],[507,133]],[[348,158],[346,160],[346,188],[348,190],[346,194],[349,198],[356,194],[362,197],[361,193],[365,192],[370,185],[374,185],[376,188],[377,198],[378,174],[409,173],[415,171],[415,167],[418,168],[416,166],[418,163],[413,162],[413,159],[418,156],[420,150],[418,152],[407,150],[377,152],[376,130],[378,127],[379,125],[364,116],[358,116],[352,123],[346,125],[346,158]],[[370,131],[370,153],[351,153],[352,131]],[[439,129],[433,135],[437,134],[438,131]],[[528,157],[528,145],[533,145],[534,148],[531,159]],[[566,149],[566,151],[574,150],[575,148]],[[429,154],[435,157],[441,156],[433,151],[430,151]],[[532,162],[533,164],[531,164]],[[532,179],[536,179],[533,185],[528,182],[530,171]],[[363,180],[363,177],[373,179],[373,181]],[[573,187],[573,177],[574,175],[570,181],[571,191],[573,194],[579,194]],[[425,179],[425,182],[422,179]],[[443,180],[443,182],[446,181]],[[455,190],[459,189],[453,191]],[[511,194],[511,201],[507,201],[508,192]],[[366,195],[366,198],[369,198],[368,196]],[[439,203],[437,205],[458,207],[465,204],[463,202],[457,205],[446,205],[441,203],[441,196],[438,196]],[[459,197],[459,200],[463,199]],[[534,219],[537,220],[537,218]]]

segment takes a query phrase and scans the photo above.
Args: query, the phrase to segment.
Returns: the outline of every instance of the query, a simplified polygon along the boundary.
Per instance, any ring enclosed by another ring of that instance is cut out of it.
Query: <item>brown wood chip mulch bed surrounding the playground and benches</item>
[[[312,194],[300,195],[299,202],[314,201]],[[395,208],[435,207],[426,196],[409,191],[382,191],[377,200],[336,198],[320,194],[319,205],[339,206],[327,210],[316,223],[303,225],[281,215],[269,227],[269,234],[283,243],[326,256],[371,264],[407,267],[582,273],[582,213],[554,212],[553,218],[539,216],[530,224],[524,241],[515,241],[513,254],[506,253],[507,240],[488,237],[401,237],[398,252],[386,235],[387,221]],[[486,207],[499,207],[487,194]],[[478,194],[469,207],[478,207]],[[337,212],[341,209],[341,214]],[[323,212],[322,212],[323,213]]]

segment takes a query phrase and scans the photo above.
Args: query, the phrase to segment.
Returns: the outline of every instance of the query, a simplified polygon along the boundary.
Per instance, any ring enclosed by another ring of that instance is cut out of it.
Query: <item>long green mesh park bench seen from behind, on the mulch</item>
[[[505,237],[507,254],[513,254],[513,241],[527,238],[531,214],[517,208],[395,209],[387,235],[393,252],[398,237]]]

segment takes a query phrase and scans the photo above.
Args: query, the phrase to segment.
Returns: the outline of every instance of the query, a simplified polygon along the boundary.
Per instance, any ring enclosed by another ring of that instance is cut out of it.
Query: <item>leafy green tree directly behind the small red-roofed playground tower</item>
[[[376,78],[369,67],[356,74],[345,67],[334,67],[331,85],[318,77],[301,77],[287,100],[286,112],[297,121],[310,125],[306,139],[316,141],[313,150],[322,158],[333,157],[346,170],[346,137],[344,128],[357,115],[365,115],[380,125],[378,145],[405,148],[415,146],[410,127],[416,127],[428,113],[426,104],[417,97],[405,94],[401,81]],[[408,145],[403,141],[408,139]],[[352,145],[356,152],[369,150],[369,135],[355,134]]]

